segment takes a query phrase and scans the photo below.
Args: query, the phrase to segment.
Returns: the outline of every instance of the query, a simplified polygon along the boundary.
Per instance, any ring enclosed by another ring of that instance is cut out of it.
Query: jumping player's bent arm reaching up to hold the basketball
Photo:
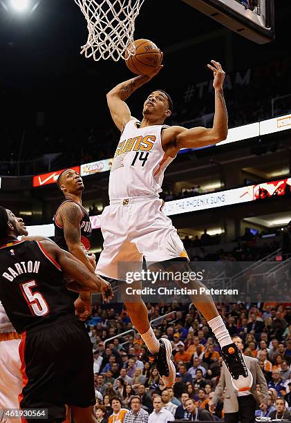
[[[162,62],[162,56],[160,62]],[[126,104],[126,100],[133,93],[133,91],[149,82],[151,78],[160,72],[161,69],[162,65],[158,66],[158,68],[156,68],[155,71],[151,73],[151,75],[138,75],[137,77],[121,82],[112,88],[109,93],[107,93],[107,104],[109,106],[111,117],[120,131],[123,131],[126,123],[133,119],[131,117],[129,106]]]

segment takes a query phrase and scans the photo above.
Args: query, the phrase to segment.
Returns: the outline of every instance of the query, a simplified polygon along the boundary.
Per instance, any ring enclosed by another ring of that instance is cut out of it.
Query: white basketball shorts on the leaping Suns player
[[[124,272],[142,270],[143,256],[147,263],[188,258],[177,230],[161,208],[162,200],[156,197],[111,200],[100,218],[104,250],[97,274],[125,280]]]

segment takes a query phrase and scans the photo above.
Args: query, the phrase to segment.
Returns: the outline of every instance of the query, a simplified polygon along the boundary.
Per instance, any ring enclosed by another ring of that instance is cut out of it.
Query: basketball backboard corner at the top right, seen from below
[[[274,39],[274,0],[182,0],[258,44]]]

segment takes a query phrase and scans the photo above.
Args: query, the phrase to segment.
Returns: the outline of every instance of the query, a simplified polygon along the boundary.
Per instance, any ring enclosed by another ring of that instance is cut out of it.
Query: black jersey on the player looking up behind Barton
[[[91,238],[91,220],[88,215],[88,212],[82,205],[79,205],[73,200],[64,200],[59,207],[61,207],[64,203],[67,203],[68,201],[71,201],[72,203],[75,203],[79,206],[81,209],[81,212],[83,214],[82,220],[80,221],[80,227],[81,227],[81,242],[86,248],[86,250],[90,250],[90,238]],[[59,208],[57,209],[57,212],[59,211]],[[55,225],[55,243],[59,245],[63,250],[68,251],[68,245],[66,244],[66,239],[64,236],[64,228],[57,223],[57,212],[55,212],[55,216],[53,217],[53,223]]]

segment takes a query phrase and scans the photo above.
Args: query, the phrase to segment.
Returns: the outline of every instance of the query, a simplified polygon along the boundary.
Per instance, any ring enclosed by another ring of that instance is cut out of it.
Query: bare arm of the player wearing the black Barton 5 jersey
[[[102,292],[104,299],[113,297],[110,283],[89,272],[86,266],[70,253],[65,253],[56,244],[48,241],[41,241],[41,245],[59,264],[64,275],[73,280],[70,289],[76,292]]]

